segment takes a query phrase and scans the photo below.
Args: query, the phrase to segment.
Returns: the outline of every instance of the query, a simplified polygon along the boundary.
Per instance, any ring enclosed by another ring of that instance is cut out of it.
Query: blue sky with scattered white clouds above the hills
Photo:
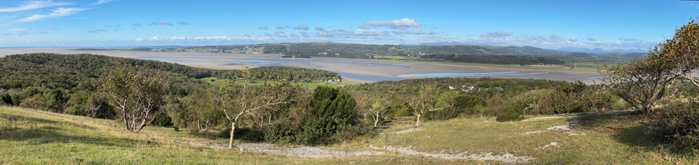
[[[0,47],[347,42],[647,50],[699,1],[2,0]]]

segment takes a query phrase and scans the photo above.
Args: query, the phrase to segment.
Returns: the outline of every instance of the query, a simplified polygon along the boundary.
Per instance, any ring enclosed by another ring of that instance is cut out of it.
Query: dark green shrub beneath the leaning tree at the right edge
[[[660,109],[660,119],[651,125],[656,138],[699,147],[699,103],[676,103]]]

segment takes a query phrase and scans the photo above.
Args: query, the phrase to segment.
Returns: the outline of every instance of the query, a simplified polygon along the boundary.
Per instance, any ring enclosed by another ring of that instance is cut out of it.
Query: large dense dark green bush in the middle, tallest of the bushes
[[[359,114],[354,111],[356,102],[347,91],[319,86],[310,99],[305,97],[305,100],[280,114],[280,120],[266,127],[262,132],[264,140],[322,145],[354,139],[370,132],[366,125],[361,124]]]

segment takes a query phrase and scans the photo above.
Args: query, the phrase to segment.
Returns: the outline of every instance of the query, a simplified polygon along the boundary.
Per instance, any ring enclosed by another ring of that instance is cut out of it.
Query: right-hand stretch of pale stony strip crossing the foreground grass
[[[503,164],[528,164],[532,160],[534,160],[534,157],[530,156],[514,156],[513,154],[510,153],[505,153],[503,155],[493,155],[493,152],[488,152],[488,153],[482,153],[482,154],[471,154],[469,155],[468,152],[460,152],[456,154],[449,154],[445,151],[439,152],[439,153],[430,153],[430,152],[421,152],[417,150],[413,150],[412,148],[401,148],[401,147],[393,147],[393,146],[382,146],[382,147],[377,147],[369,144],[369,148],[373,148],[375,150],[387,150],[390,152],[397,152],[401,155],[415,155],[415,156],[422,156],[422,157],[432,157],[432,158],[438,158],[438,159],[447,159],[447,160],[454,160],[454,159],[462,159],[462,160],[473,160],[477,162],[485,162],[485,161],[496,161],[496,162],[501,162]]]

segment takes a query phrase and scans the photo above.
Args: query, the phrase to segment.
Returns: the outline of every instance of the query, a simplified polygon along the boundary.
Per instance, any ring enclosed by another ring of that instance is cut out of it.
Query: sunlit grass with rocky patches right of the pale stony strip
[[[406,129],[414,125],[398,120],[386,132]],[[547,131],[538,134],[522,134],[565,125],[566,121],[581,120],[573,129],[576,136],[568,136],[568,131]],[[487,121],[487,122],[486,122]],[[675,163],[697,164],[699,155],[681,152],[644,134],[649,119],[633,112],[618,114],[601,113],[581,116],[568,116],[542,120],[498,123],[495,118],[468,118],[438,121],[424,125],[424,130],[408,134],[388,134],[382,136],[375,146],[412,146],[415,150],[440,152],[450,150],[468,151],[469,154],[482,152],[510,152],[514,155],[536,157],[535,164],[656,164]],[[540,149],[551,142],[561,144],[560,148]],[[539,148],[539,149],[538,149]],[[684,159],[682,159],[684,157]]]

